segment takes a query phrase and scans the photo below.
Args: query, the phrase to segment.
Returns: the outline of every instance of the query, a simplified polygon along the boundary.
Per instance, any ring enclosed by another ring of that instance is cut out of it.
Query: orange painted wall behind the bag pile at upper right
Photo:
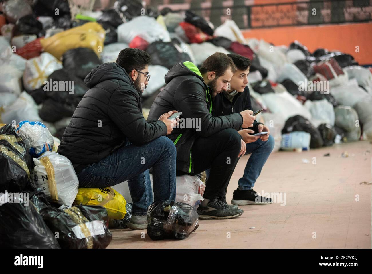
[[[246,38],[264,39],[274,45],[289,45],[298,40],[310,52],[317,48],[339,50],[353,55],[361,65],[372,64],[372,22],[251,29],[242,32]],[[359,52],[355,52],[356,46],[359,46]]]

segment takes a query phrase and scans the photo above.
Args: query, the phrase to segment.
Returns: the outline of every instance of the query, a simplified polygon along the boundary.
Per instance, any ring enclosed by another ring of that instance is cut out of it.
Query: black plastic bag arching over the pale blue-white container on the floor
[[[289,133],[292,131],[305,131],[310,133],[310,148],[316,149],[318,147],[323,146],[323,138],[317,128],[311,124],[309,120],[301,115],[295,115],[293,117],[288,118],[285,122],[284,128],[282,130],[282,134]]]

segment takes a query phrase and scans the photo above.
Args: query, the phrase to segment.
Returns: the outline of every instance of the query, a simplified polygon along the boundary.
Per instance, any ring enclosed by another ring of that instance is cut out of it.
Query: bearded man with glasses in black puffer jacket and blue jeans
[[[58,153],[73,163],[80,187],[105,188],[128,180],[133,200],[132,229],[146,229],[147,208],[154,200],[176,197],[176,148],[169,138],[176,121],[145,120],[141,93],[150,79],[150,55],[122,50],[116,63],[105,63],[87,75],[90,89],[64,131]],[[158,117],[157,117],[158,118]]]

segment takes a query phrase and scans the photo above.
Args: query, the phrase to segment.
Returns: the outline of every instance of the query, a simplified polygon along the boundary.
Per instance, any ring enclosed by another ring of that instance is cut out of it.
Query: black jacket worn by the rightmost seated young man
[[[232,102],[226,98],[223,93],[217,94],[214,98],[215,102],[215,115],[229,115],[232,113],[239,113],[246,109],[250,109],[251,111],[255,112],[258,109],[252,109],[251,103],[251,96],[249,94],[249,88],[246,86],[243,92],[239,92],[232,98]],[[258,133],[257,125],[262,124],[261,122],[257,122],[254,120],[253,127],[249,127],[248,129],[254,130],[255,133]]]

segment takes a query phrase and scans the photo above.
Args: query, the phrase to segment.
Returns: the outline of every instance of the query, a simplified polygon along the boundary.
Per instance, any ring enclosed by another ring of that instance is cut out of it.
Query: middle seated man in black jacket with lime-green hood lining
[[[200,219],[231,219],[243,214],[237,206],[219,200],[218,193],[230,180],[234,163],[246,145],[237,130],[252,125],[252,111],[215,117],[214,97],[227,90],[236,68],[221,52],[209,56],[200,71],[191,62],[176,64],[165,76],[166,86],[151,106],[149,118],[177,109],[180,124],[169,138],[177,149],[177,175],[195,175],[211,169]],[[186,122],[186,123],[185,123]],[[188,123],[187,123],[188,122]]]

